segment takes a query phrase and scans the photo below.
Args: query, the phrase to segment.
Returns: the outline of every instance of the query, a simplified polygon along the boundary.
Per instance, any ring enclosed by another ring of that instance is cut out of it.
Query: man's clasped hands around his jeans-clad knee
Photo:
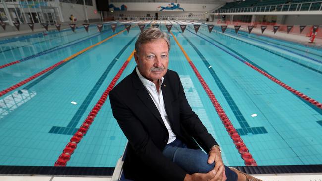
[[[206,174],[195,173],[187,174],[184,181],[225,181],[225,166],[222,162],[221,153],[218,148],[212,148],[209,151],[208,164],[215,162],[215,168]]]

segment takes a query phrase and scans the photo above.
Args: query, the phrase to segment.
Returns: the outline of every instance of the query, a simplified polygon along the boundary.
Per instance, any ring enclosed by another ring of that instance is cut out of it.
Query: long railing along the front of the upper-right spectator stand
[[[238,12],[285,12],[285,11],[321,11],[322,1],[279,4],[269,6],[240,7],[229,9],[218,9],[215,13],[238,13]]]

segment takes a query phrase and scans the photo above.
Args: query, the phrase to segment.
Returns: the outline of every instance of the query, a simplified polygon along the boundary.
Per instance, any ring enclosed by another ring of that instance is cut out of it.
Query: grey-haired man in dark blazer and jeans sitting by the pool
[[[136,68],[109,94],[113,115],[129,140],[125,178],[260,181],[224,166],[220,147],[192,111],[178,74],[168,70],[169,35],[146,29],[135,50]]]

